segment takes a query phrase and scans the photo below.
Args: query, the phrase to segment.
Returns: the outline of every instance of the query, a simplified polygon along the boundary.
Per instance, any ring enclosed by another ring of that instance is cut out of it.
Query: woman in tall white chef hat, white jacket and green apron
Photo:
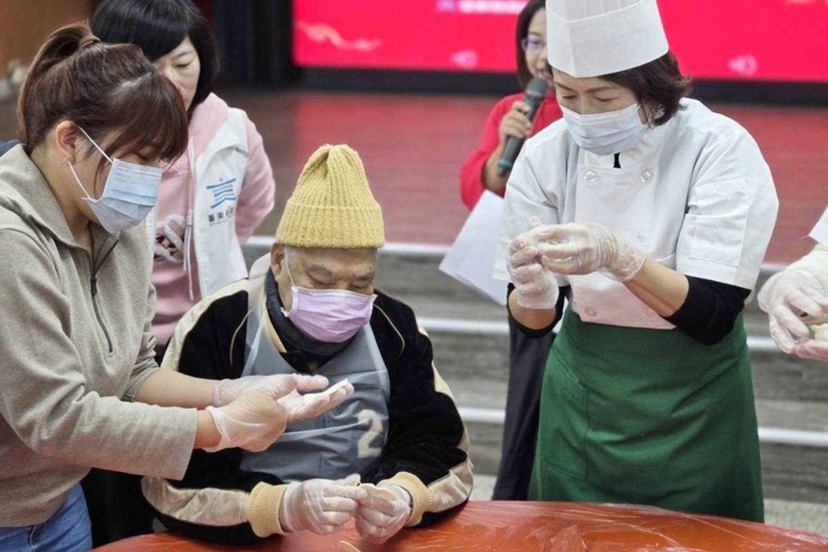
[[[527,334],[570,297],[530,498],[762,521],[740,313],[777,215],[768,165],[684,98],[655,0],[547,0],[546,17],[564,118],[517,158],[496,269]]]

